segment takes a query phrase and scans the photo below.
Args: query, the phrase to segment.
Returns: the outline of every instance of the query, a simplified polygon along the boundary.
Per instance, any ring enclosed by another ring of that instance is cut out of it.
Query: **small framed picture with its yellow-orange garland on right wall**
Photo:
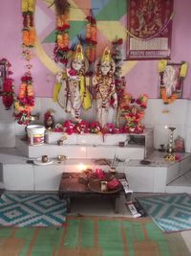
[[[158,62],[160,98],[165,105],[181,98],[183,80],[187,74],[187,62],[168,63],[166,59]]]

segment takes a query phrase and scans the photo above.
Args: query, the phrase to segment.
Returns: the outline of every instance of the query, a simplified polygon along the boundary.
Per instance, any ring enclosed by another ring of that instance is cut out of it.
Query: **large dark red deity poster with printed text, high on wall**
[[[129,0],[127,59],[170,58],[173,0]]]

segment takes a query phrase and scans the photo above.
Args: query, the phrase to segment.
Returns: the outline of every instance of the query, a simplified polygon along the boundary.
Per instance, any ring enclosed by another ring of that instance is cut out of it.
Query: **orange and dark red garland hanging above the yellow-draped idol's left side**
[[[56,40],[53,49],[54,60],[66,66],[69,58],[69,12],[70,4],[65,0],[55,0]]]

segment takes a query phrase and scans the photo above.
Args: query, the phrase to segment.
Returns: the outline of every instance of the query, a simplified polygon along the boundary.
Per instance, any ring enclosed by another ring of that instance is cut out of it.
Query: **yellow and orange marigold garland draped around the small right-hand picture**
[[[168,97],[167,92],[166,92],[166,87],[163,81],[163,75],[165,68],[168,64],[168,61],[166,59],[161,59],[158,62],[158,71],[159,71],[159,77],[160,77],[160,97],[163,101],[164,104],[172,104],[174,103],[178,98],[179,95],[177,92],[173,92],[170,97]],[[181,66],[180,66],[180,81],[183,80],[187,74],[187,62],[182,61]]]

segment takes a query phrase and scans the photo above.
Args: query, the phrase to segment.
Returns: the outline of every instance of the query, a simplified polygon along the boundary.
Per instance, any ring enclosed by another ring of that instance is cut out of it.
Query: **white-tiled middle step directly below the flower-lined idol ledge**
[[[16,137],[16,149],[29,158],[41,157],[48,154],[56,158],[57,155],[65,154],[69,158],[109,158],[113,159],[115,155],[122,159],[143,159],[145,149],[143,145],[128,145],[126,147],[112,145],[70,145],[64,144],[43,144],[40,146],[31,146],[22,137]]]

